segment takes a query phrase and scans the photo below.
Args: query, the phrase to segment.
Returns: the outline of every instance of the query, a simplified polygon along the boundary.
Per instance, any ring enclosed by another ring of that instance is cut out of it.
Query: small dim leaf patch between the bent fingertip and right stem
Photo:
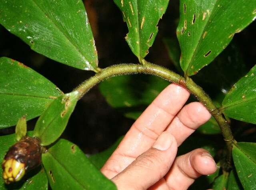
[[[208,122],[200,126],[196,131],[201,132],[203,134],[219,134],[220,127],[218,126],[218,123],[212,116]]]

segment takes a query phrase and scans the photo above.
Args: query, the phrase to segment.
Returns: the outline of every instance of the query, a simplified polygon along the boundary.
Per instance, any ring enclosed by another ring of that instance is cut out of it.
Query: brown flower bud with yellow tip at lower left
[[[11,146],[2,162],[6,184],[20,180],[24,174],[41,164],[42,147],[37,138],[24,137]]]

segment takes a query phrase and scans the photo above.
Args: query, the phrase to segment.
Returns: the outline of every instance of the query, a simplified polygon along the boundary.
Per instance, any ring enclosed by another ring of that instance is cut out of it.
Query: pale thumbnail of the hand
[[[154,145],[153,148],[156,148],[158,150],[167,150],[172,145],[172,137],[170,136],[169,132],[163,132]]]

